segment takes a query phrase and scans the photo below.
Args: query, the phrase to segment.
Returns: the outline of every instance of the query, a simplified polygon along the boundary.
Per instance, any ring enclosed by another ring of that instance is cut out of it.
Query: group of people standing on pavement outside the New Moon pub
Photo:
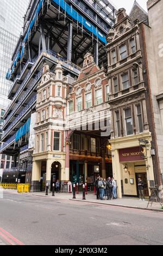
[[[97,176],[97,179],[95,181],[96,185],[96,196],[97,200],[101,199],[117,199],[117,193],[116,193],[116,181],[114,178],[109,177],[107,180],[101,178],[100,175]]]

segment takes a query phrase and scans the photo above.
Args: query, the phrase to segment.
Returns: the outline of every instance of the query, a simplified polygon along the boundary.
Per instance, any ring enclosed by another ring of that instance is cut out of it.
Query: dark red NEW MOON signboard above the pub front
[[[142,161],[140,148],[127,148],[119,150],[120,162]]]

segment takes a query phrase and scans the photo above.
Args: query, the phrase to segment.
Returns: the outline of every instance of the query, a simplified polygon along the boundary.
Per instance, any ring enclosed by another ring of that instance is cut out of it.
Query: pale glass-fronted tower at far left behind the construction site
[[[23,31],[23,15],[26,13],[29,0],[0,0],[0,145],[4,114],[10,103],[8,93],[12,82],[6,80],[6,74],[12,63],[12,54],[18,38]],[[2,169],[11,168],[12,157],[0,155],[0,182]]]

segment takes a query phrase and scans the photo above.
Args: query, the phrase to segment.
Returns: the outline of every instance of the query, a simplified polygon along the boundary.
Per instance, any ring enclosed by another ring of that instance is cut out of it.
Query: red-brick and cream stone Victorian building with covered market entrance
[[[93,189],[98,173],[112,175],[108,95],[104,68],[90,53],[76,81],[63,75],[60,64],[54,73],[45,64],[37,86],[32,191],[57,179]]]

